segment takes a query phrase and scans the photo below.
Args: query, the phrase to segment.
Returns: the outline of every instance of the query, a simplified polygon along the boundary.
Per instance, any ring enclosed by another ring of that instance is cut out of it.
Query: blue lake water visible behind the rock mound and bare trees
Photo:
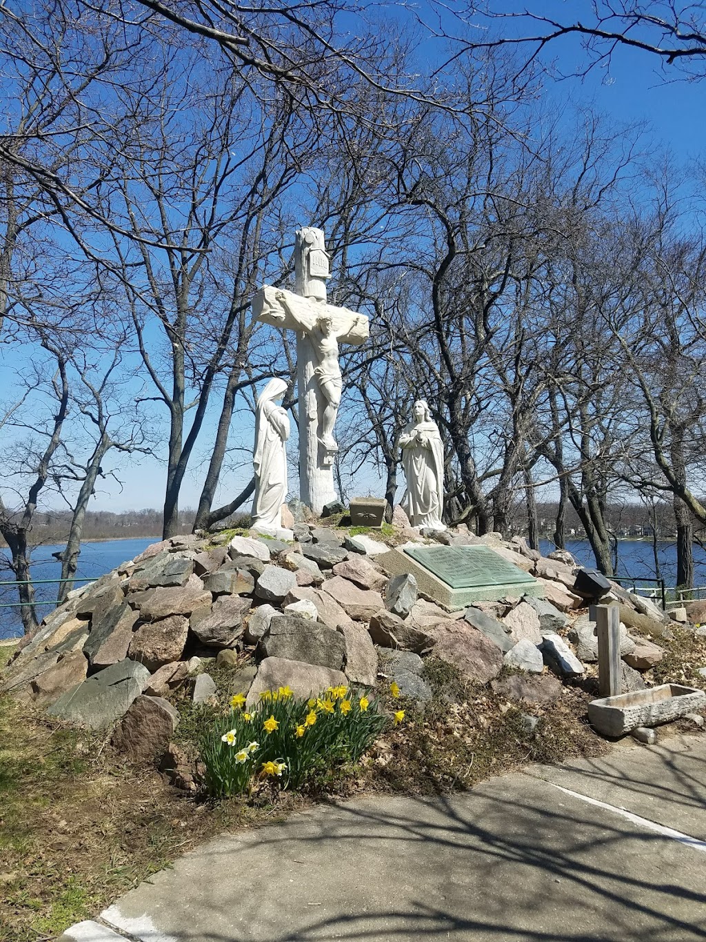
[[[106,540],[104,543],[86,543],[81,547],[81,556],[78,562],[77,585],[84,581],[96,579],[109,572],[121,562],[132,560],[159,537],[143,540]],[[52,558],[52,553],[64,548],[63,544],[55,546],[40,546],[35,551],[35,561],[32,564],[32,576],[36,579],[57,579],[61,575],[61,564]],[[551,553],[554,544],[542,540],[539,548],[543,555]],[[567,549],[582,565],[593,566],[595,560],[587,540],[572,540]],[[0,549],[0,554],[7,554],[7,549]],[[667,586],[673,586],[677,578],[677,554],[673,543],[661,543],[658,555],[662,575]],[[695,585],[706,584],[706,552],[700,546],[694,547]],[[618,541],[618,576],[631,576],[654,578],[654,559],[652,544],[641,540]],[[0,570],[0,581],[9,580],[11,574]],[[37,597],[42,601],[56,599],[57,585],[37,585]],[[17,601],[17,591],[11,586],[0,586],[0,606]],[[51,605],[42,605],[42,614],[52,610]],[[0,638],[14,638],[21,635],[22,623],[18,609],[0,608]]]

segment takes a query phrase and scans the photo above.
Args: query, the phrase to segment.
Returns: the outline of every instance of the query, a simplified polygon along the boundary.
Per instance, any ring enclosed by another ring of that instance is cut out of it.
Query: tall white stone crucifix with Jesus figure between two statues
[[[265,284],[252,301],[254,316],[281,330],[297,332],[299,394],[299,497],[320,513],[336,499],[333,437],[341,403],[339,343],[360,345],[369,335],[368,318],[327,303],[329,253],[324,232],[306,226],[295,243],[296,293]]]

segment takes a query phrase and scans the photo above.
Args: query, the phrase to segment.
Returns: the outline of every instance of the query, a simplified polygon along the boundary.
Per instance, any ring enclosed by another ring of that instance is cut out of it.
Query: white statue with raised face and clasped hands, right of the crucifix
[[[424,399],[412,406],[412,421],[400,435],[407,493],[402,508],[412,527],[446,529],[443,512],[443,443]]]

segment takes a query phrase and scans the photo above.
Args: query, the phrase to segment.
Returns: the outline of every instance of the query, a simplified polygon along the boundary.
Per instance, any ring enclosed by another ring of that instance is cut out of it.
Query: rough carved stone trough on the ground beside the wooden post
[[[624,736],[637,726],[658,726],[706,706],[706,690],[661,684],[588,704],[588,720],[603,736]]]

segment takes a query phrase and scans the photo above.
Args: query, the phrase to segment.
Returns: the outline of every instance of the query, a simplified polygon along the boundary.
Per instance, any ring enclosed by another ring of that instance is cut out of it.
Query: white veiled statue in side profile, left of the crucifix
[[[272,535],[281,529],[281,507],[287,496],[289,415],[277,404],[286,388],[284,380],[270,380],[257,400],[255,412],[252,528]]]

